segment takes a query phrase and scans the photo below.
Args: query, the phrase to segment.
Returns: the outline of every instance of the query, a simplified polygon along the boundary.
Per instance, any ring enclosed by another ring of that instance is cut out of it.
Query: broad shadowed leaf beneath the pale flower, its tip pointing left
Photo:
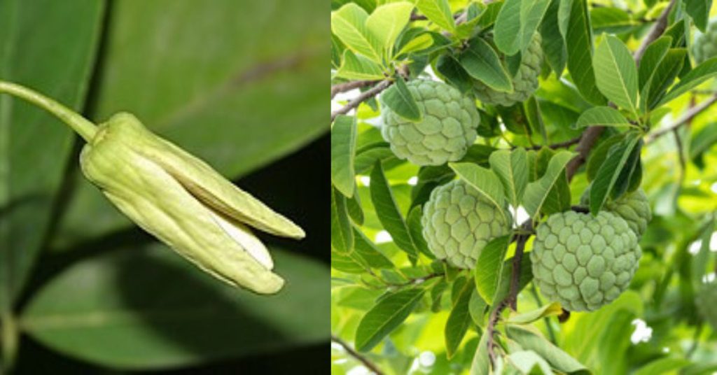
[[[291,252],[272,255],[288,280],[277,295],[225,285],[163,245],[92,257],[34,295],[22,327],[50,348],[116,369],[189,366],[328,341],[328,268]]]

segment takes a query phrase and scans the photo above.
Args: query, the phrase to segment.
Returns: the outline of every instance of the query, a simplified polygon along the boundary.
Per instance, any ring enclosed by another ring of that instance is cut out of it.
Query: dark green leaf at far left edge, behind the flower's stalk
[[[103,1],[1,1],[1,79],[81,110],[103,11]],[[9,95],[0,95],[0,108],[0,313],[6,313],[39,253],[75,135]]]

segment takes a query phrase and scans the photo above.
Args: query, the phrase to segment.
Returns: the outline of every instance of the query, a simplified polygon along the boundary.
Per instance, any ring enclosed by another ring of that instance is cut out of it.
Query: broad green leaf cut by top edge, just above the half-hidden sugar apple
[[[501,52],[513,55],[523,50],[543,20],[550,0],[505,0],[495,19],[495,45]]]

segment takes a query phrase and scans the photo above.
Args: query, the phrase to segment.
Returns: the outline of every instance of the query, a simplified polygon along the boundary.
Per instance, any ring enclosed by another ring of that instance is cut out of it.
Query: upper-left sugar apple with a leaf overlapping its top
[[[480,115],[474,100],[443,82],[413,80],[407,86],[423,119],[406,120],[381,104],[381,134],[391,151],[419,166],[460,160],[477,136]]]

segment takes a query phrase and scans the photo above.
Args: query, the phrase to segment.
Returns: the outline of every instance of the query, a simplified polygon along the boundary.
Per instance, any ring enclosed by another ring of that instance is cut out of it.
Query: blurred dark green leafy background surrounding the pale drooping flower
[[[323,8],[319,0],[0,1],[0,79],[95,122],[135,113],[308,232],[302,242],[262,236],[288,281],[278,295],[224,287],[84,181],[81,142],[65,125],[3,95],[5,367],[313,374],[326,365],[328,212],[316,209],[329,194],[328,169],[317,167],[329,155]]]

